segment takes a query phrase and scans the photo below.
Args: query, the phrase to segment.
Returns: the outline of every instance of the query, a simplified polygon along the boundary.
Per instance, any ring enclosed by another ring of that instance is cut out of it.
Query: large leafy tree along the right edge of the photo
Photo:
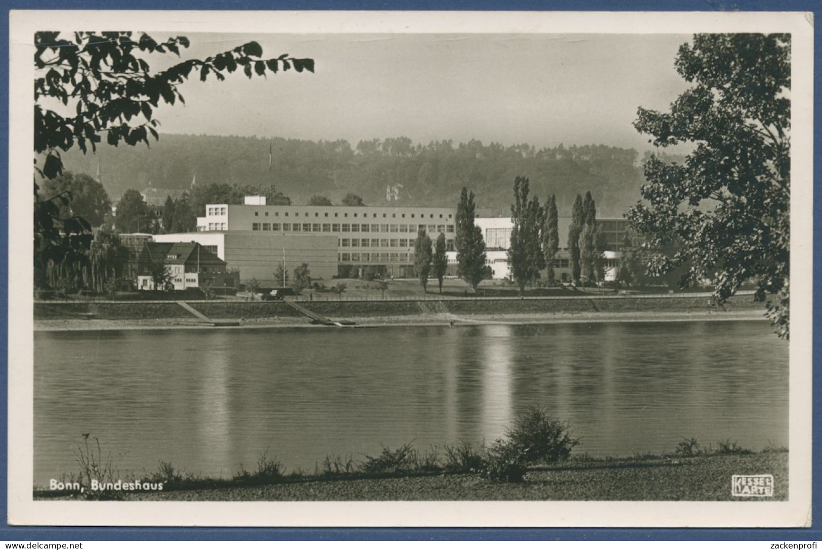
[[[692,84],[670,112],[640,108],[635,127],[659,147],[690,143],[684,163],[649,158],[635,227],[655,249],[651,268],[690,264],[722,304],[753,280],[778,334],[789,334],[791,37],[695,34],[677,72]],[[769,296],[774,296],[769,299]]]

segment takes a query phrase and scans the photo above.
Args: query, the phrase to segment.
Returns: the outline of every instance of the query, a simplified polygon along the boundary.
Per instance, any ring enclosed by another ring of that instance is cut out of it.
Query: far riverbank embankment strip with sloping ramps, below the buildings
[[[312,327],[310,319],[283,302],[189,301],[210,319],[239,320],[241,326]],[[706,296],[595,296],[469,300],[301,301],[314,313],[359,326],[441,324],[527,324],[614,321],[762,319],[751,296],[734,296],[722,308]],[[36,330],[202,328],[173,301],[35,301]]]

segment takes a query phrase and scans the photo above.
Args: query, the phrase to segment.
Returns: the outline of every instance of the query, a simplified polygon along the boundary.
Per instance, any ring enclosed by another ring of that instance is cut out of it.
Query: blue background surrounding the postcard
[[[8,150],[8,11],[12,9],[198,9],[198,10],[498,10],[498,11],[814,11],[820,15],[820,5],[815,0],[739,0],[722,2],[716,0],[396,0],[380,2],[377,0],[358,0],[349,2],[300,2],[283,0],[242,0],[242,2],[220,2],[218,0],[141,0],[113,2],[112,0],[6,0],[0,21],[0,72],[3,85],[0,89],[0,104],[4,110],[0,117],[0,151]],[[820,33],[815,31],[815,59],[819,59]],[[820,71],[815,71],[815,89],[820,89]],[[815,110],[819,110],[820,101],[815,94]],[[820,117],[814,124],[814,135],[818,135]],[[814,147],[815,171],[820,174],[820,155],[818,144]],[[8,167],[7,154],[0,157],[3,196],[7,196]],[[814,178],[816,181],[818,178]],[[20,185],[24,185],[20,182]],[[29,184],[25,184],[29,185]],[[820,213],[820,199],[815,197],[814,213]],[[0,208],[0,227],[7,231],[8,207]],[[814,258],[820,257],[820,216],[814,217]],[[8,273],[7,232],[0,239],[0,261],[4,273]],[[814,262],[814,281],[820,280],[818,262]],[[7,312],[7,286],[2,286],[2,309]],[[801,299],[801,298],[799,298]],[[795,297],[797,300],[797,297]],[[814,311],[820,309],[822,296],[820,285],[814,285]],[[7,350],[7,314],[0,318],[0,345]],[[814,333],[819,330],[818,316],[814,315]],[[819,356],[820,343],[814,338],[814,357]],[[814,364],[816,364],[816,360]],[[815,366],[815,365],[814,365]],[[814,379],[814,395],[818,396],[820,380]],[[7,376],[0,377],[0,396],[7,396]],[[814,419],[820,419],[820,403],[814,400]],[[47,540],[257,540],[257,539],[292,539],[292,540],[820,540],[820,521],[810,529],[287,529],[287,528],[69,528],[69,527],[10,527],[6,525],[7,517],[7,407],[0,407],[0,540],[10,542],[47,541]],[[822,475],[820,475],[820,423],[815,422],[814,468],[813,468],[813,503],[819,511],[820,494],[822,494]]]

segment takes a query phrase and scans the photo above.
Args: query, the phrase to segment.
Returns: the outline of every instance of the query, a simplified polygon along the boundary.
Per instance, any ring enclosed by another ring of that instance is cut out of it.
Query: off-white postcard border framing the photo
[[[810,524],[813,16],[767,12],[11,11],[8,523],[10,525],[783,527]],[[792,341],[786,502],[34,501],[30,187],[32,37],[59,28],[255,33],[792,34]]]

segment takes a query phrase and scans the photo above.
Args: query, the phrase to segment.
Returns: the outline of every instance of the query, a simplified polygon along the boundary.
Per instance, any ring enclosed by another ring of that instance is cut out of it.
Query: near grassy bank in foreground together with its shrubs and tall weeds
[[[773,474],[774,497],[787,498],[787,449],[753,452],[736,442],[700,446],[694,438],[670,454],[621,458],[571,456],[580,444],[566,424],[532,408],[515,420],[506,437],[490,445],[418,450],[413,442],[383,447],[377,456],[354,461],[326,456],[313,474],[285,474],[284,465],[263,451],[256,469],[242,465],[230,479],[185,474],[160,462],[154,474],[121,476],[99,446],[78,447],[81,473],[64,476],[63,490],[36,489],[38,499],[112,500],[735,500],[733,474]],[[117,482],[122,479],[121,484]],[[90,490],[93,483],[96,490]],[[102,483],[103,488],[99,488]],[[110,484],[110,485],[105,485]],[[149,484],[146,488],[145,484]],[[142,490],[145,488],[145,490]]]

